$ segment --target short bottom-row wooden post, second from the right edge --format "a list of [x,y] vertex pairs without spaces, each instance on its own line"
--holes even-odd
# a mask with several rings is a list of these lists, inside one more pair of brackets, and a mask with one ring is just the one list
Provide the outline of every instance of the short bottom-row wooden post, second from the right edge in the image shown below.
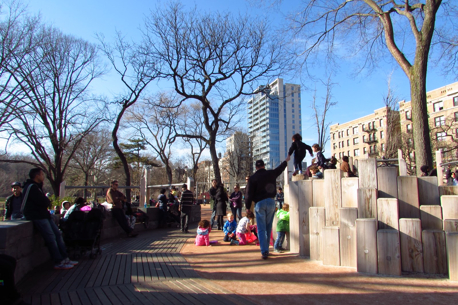
[[425,273],[447,274],[445,233],[441,230],[423,230],[423,266]]

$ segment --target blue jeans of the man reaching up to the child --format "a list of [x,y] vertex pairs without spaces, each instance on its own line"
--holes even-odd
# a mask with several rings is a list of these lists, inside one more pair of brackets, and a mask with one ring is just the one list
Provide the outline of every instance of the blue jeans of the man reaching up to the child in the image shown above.
[[267,198],[256,202],[255,212],[261,254],[264,254],[264,252],[269,253],[270,234],[272,234],[273,215],[275,214],[275,200]]

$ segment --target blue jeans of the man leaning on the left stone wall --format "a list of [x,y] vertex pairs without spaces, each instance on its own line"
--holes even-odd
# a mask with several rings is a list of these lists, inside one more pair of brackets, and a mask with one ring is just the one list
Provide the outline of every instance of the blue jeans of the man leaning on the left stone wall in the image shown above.
[[55,263],[60,263],[68,257],[62,233],[52,219],[32,220],[35,228],[43,236],[48,246],[49,254]]

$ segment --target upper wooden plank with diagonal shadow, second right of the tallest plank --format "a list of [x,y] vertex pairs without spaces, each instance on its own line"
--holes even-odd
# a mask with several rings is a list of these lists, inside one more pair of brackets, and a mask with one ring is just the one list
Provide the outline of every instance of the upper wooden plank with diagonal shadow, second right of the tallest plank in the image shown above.
[[400,218],[420,218],[417,176],[398,177]]

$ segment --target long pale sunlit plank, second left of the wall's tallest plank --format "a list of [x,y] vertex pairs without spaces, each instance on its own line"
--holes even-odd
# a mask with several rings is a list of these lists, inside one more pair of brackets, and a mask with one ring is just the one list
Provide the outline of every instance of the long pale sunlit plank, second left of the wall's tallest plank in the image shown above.
[[326,207],[326,225],[339,225],[339,207],[342,207],[342,185],[344,177],[340,169],[326,169],[324,183],[328,185],[324,192],[324,206]]

